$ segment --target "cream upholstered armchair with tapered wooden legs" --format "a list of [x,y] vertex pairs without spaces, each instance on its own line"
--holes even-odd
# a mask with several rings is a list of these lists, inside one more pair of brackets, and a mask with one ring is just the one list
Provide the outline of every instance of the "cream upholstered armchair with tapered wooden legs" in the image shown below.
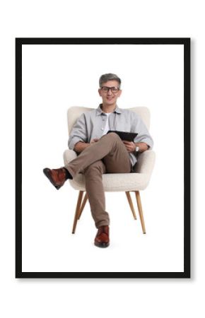
[[[139,114],[141,119],[149,128],[150,124],[150,112],[147,107],[134,107],[129,108],[130,110]],[[67,112],[69,134],[74,126],[74,123],[81,116],[83,112],[88,110],[93,110],[93,108],[86,107],[70,107]],[[76,152],[67,149],[64,151],[64,164],[68,164],[71,160],[76,158]],[[136,173],[109,173],[102,175],[102,182],[105,192],[125,192],[127,199],[129,201],[129,206],[133,213],[134,219],[136,220],[136,213],[134,211],[134,206],[131,201],[131,196],[129,192],[134,192],[136,195],[136,202],[139,210],[139,216],[141,220],[141,226],[144,234],[146,233],[146,228],[144,224],[144,216],[141,207],[141,199],[139,191],[146,189],[148,182],[151,178],[151,173],[153,171],[153,166],[155,163],[155,153],[154,151],[144,151],[140,153],[138,157],[138,162],[136,164]],[[85,194],[83,197],[83,192],[86,192],[85,178],[84,175],[79,173],[74,177],[74,179],[69,180],[71,187],[79,191],[78,201],[76,206],[76,213],[74,217],[74,225],[72,232],[76,230],[76,225],[78,219],[81,217],[83,208],[86,205],[88,196]]]

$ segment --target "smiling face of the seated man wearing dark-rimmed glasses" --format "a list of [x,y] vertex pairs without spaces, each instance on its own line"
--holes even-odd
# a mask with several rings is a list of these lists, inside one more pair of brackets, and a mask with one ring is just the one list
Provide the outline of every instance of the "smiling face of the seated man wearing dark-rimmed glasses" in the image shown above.
[[[104,87],[104,89],[103,89]],[[106,87],[106,88],[105,88]],[[118,88],[119,83],[118,81],[107,81],[105,83],[102,83],[102,88],[99,88],[98,93],[102,97],[102,104],[104,105],[112,105],[116,104],[117,98],[122,93],[122,90],[116,90],[113,88]],[[112,88],[112,90],[107,90],[107,88]]]

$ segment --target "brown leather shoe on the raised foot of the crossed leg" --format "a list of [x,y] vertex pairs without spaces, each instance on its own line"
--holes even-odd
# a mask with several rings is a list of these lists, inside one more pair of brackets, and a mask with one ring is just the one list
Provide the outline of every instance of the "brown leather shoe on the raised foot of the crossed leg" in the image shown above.
[[45,168],[43,172],[57,190],[64,185],[64,182],[66,181],[66,171],[64,167],[59,169]]

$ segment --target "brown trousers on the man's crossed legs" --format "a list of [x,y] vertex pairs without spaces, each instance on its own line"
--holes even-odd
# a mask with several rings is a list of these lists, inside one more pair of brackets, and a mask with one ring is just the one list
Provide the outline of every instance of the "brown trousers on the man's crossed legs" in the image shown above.
[[102,136],[97,143],[84,149],[65,167],[72,177],[77,173],[84,174],[86,193],[96,228],[109,225],[110,218],[105,211],[102,174],[131,172],[129,153],[119,136],[115,133]]

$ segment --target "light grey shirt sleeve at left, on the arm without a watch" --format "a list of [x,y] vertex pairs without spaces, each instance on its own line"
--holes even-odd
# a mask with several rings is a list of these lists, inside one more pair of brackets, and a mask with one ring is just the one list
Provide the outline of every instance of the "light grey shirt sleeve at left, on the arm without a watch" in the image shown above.
[[78,141],[86,143],[88,140],[88,134],[86,129],[86,117],[85,114],[81,114],[71,130],[69,136],[69,149],[74,150],[74,146]]

